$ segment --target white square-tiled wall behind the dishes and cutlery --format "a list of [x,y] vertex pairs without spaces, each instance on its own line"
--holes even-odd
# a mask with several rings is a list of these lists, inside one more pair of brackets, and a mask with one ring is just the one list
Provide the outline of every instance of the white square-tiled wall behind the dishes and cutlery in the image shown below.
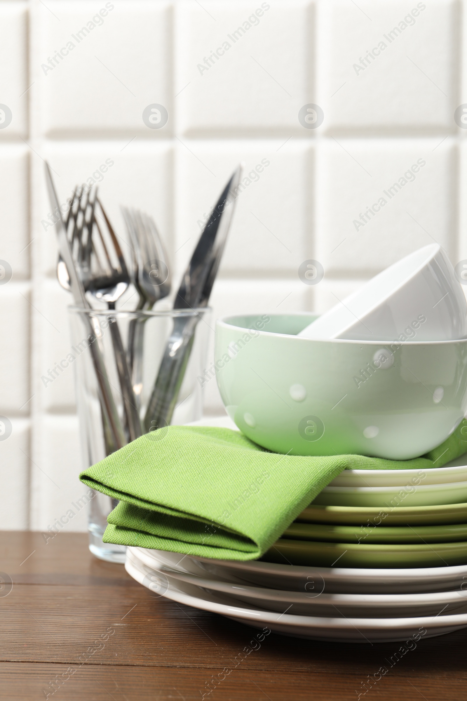
[[[111,161],[100,182],[111,220],[123,231],[120,204],[150,212],[175,278],[244,161],[215,316],[324,311],[433,240],[456,263],[467,257],[467,132],[454,121],[467,102],[466,5],[0,0],[0,109],[13,115],[0,121],[0,260],[13,269],[0,284],[0,416],[12,426],[1,529],[47,529],[83,494],[72,372],[41,382],[70,345],[44,159],[61,200]],[[169,114],[159,130],[141,116],[153,103]],[[298,119],[310,103],[323,109],[316,129]],[[325,269],[316,287],[298,277],[310,258]],[[222,411],[214,380],[205,407]],[[84,512],[69,527],[84,530]]]

